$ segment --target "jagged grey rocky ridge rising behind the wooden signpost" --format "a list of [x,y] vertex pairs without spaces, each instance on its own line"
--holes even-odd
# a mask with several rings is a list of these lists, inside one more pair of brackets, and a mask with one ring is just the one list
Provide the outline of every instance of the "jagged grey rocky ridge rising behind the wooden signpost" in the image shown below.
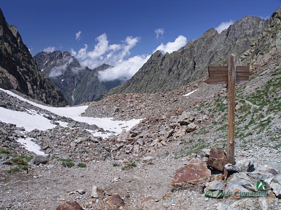
[[108,94],[167,92],[207,75],[208,65],[225,65],[226,56],[240,56],[260,35],[266,25],[258,17],[244,17],[218,34],[215,29],[190,40],[173,53],[155,52],[128,81]]

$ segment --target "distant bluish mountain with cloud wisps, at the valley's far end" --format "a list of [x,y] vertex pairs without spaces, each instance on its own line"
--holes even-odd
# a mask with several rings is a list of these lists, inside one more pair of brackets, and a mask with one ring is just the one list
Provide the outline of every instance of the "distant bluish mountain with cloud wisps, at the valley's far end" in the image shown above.
[[99,99],[120,81],[100,82],[98,71],[110,68],[103,64],[96,69],[81,67],[79,61],[68,52],[41,52],[34,56],[39,69],[48,76],[64,94],[70,105]]

